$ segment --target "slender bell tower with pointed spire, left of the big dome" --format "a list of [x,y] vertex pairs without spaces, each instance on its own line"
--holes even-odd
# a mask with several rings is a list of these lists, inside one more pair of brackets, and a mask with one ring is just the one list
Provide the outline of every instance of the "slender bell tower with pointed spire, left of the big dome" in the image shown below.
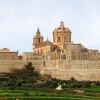
[[33,49],[39,48],[43,45],[43,36],[41,36],[39,28],[37,29],[36,35],[33,37]]

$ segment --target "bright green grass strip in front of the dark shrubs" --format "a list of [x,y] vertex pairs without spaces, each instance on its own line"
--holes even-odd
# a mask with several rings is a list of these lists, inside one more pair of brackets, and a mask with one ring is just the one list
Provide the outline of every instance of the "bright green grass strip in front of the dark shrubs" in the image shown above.
[[[78,91],[83,91],[77,92]],[[100,87],[81,89],[0,90],[0,100],[100,100]]]

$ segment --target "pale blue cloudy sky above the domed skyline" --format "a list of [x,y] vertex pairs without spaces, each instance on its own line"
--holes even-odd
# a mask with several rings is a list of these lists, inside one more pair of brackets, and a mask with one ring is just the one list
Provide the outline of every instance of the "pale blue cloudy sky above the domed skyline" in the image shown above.
[[100,0],[0,0],[0,48],[32,51],[37,28],[52,41],[61,20],[74,43],[100,50]]

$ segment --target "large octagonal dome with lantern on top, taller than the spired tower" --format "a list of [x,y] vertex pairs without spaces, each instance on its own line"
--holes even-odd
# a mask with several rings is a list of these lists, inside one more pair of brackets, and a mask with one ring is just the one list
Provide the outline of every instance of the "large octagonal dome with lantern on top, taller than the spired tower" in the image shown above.
[[53,31],[53,44],[59,45],[63,43],[71,43],[71,31],[64,26],[64,22],[61,21],[59,27]]

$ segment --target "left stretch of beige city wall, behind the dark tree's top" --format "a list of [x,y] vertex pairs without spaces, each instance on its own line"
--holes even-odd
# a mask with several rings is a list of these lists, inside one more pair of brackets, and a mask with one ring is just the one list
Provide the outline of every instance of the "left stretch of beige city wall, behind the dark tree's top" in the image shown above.
[[32,60],[32,61],[23,61],[23,60],[0,60],[0,73],[10,72],[11,69],[21,69],[28,62],[32,62],[33,67],[37,70],[41,68],[42,61],[41,60]]

